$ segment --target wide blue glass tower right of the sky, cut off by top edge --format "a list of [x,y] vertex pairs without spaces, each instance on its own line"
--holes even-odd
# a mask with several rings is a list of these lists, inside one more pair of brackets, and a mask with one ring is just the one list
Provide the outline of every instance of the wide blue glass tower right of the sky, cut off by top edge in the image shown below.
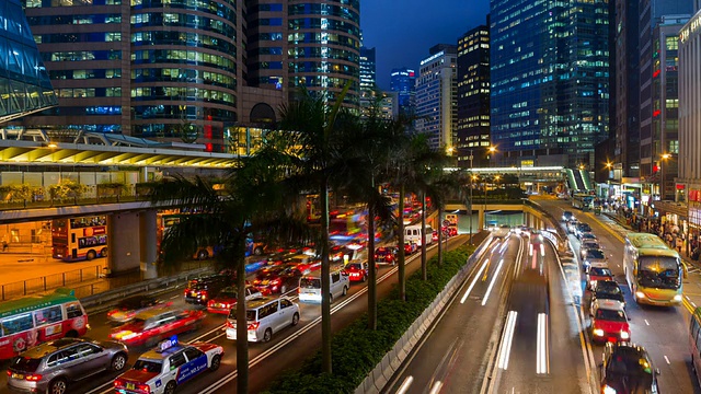
[[605,1],[491,1],[491,138],[502,165],[594,165],[608,134]]

